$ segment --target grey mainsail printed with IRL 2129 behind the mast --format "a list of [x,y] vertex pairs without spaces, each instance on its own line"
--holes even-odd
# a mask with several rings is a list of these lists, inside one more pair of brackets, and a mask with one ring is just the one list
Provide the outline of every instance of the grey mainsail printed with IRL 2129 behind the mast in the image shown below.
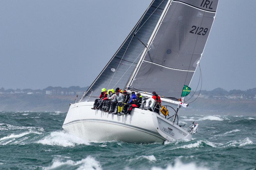
[[179,99],[208,39],[218,0],[172,0],[131,89]]

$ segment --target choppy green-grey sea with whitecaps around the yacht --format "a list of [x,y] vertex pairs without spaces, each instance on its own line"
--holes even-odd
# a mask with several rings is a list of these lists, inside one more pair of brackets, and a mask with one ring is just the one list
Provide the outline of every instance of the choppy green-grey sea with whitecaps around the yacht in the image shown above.
[[256,169],[256,115],[179,115],[199,131],[157,144],[89,142],[62,129],[66,114],[0,112],[0,169]]

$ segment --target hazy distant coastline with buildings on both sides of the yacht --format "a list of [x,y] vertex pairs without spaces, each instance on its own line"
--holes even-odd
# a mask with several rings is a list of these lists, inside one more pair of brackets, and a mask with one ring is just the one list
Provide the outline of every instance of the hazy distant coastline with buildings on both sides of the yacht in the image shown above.
[[[67,112],[76,94],[80,98],[88,87],[71,86],[68,88],[49,86],[42,90],[0,89],[0,111],[60,111]],[[185,98],[189,99],[194,92]],[[198,92],[188,100],[195,100]],[[180,109],[180,114],[204,115],[255,115],[256,88],[249,90],[226,91],[216,88],[202,90],[189,109]]]

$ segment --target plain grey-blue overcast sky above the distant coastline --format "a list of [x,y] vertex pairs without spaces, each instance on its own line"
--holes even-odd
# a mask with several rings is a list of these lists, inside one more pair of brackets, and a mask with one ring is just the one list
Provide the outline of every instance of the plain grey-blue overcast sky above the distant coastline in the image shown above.
[[[200,62],[202,89],[254,88],[256,1],[219,1]],[[1,0],[0,88],[90,85],[150,2]]]

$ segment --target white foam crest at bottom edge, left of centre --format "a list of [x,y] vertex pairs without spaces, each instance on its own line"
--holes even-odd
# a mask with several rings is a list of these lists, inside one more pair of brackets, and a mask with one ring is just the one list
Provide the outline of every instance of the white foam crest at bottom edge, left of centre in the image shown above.
[[[48,167],[44,167],[43,169],[62,169],[62,168],[71,169],[70,166],[79,166],[77,169],[88,169],[88,170],[101,170],[100,163],[96,161],[94,158],[88,156],[85,159],[79,160],[79,161],[73,161],[73,160],[67,160],[65,162],[62,162],[57,159],[52,160],[52,165]],[[70,167],[70,168],[68,168]],[[73,168],[72,168],[73,169]]]

